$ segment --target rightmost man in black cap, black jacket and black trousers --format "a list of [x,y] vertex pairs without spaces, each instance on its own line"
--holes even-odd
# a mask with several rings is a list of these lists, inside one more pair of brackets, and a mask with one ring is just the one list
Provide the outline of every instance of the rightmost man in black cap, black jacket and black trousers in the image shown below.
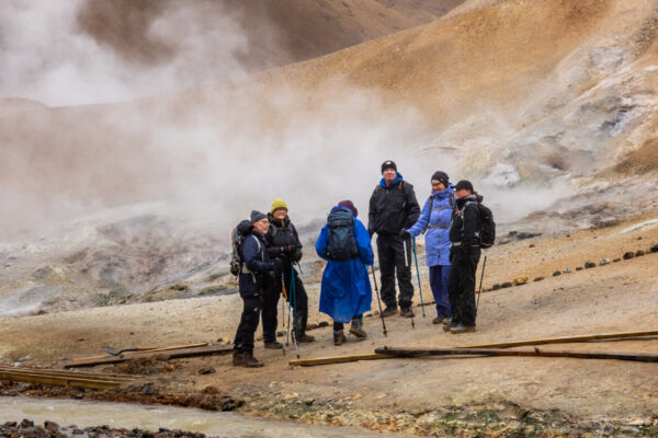
[[451,270],[447,296],[453,311],[452,321],[443,326],[451,333],[475,332],[475,272],[480,258],[479,207],[483,197],[468,181],[455,186],[456,209],[450,229]]

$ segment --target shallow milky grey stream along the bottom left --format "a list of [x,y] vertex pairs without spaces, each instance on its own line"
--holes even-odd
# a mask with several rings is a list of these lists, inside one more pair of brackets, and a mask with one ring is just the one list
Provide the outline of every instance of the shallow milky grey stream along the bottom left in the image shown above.
[[234,413],[195,408],[152,406],[126,403],[82,402],[73,400],[0,396],[0,422],[23,418],[43,424],[50,420],[63,427],[79,428],[107,425],[111,428],[140,428],[151,431],[160,427],[201,431],[211,437],[234,438],[350,438],[396,437],[366,430],[310,426],[292,422],[252,418]]

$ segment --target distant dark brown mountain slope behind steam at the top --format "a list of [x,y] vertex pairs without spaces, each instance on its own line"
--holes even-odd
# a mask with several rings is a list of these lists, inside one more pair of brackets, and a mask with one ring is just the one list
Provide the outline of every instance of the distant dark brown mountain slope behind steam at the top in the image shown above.
[[[367,39],[435,20],[463,0],[243,0],[180,3],[172,0],[87,0],[79,27],[124,58],[152,65],[174,55],[174,45],[154,35],[151,26],[174,13],[173,25],[185,18],[201,34],[218,20],[235,21],[249,41],[238,54],[250,69],[281,66],[326,55]],[[181,12],[182,11],[182,12]],[[174,30],[172,30],[174,31]],[[174,31],[175,32],[175,31]]]

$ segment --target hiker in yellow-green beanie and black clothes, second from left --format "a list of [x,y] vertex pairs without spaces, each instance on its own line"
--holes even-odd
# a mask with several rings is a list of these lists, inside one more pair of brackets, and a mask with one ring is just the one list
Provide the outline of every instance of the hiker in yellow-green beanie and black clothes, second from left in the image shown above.
[[[272,260],[281,261],[282,268],[274,273],[269,293],[263,300],[263,342],[265,348],[279,349],[283,345],[276,341],[277,306],[281,296],[287,301],[288,315],[293,316],[291,330],[290,318],[286,336],[293,336],[297,343],[310,343],[315,337],[306,334],[308,321],[308,297],[299,274],[294,264],[302,260],[302,242],[295,226],[288,217],[287,204],[280,198],[274,199],[270,212],[270,229],[265,234],[268,253]],[[284,321],[285,323],[285,321]]]

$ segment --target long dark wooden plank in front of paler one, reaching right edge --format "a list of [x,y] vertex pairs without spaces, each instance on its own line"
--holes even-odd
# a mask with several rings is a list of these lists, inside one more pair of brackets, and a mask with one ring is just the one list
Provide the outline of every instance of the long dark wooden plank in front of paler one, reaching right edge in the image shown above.
[[375,353],[395,357],[424,357],[424,356],[537,356],[537,357],[568,357],[576,359],[616,359],[640,362],[658,362],[658,355],[644,353],[601,353],[601,351],[547,351],[534,348],[532,350],[490,349],[490,348],[404,348],[383,347]]

